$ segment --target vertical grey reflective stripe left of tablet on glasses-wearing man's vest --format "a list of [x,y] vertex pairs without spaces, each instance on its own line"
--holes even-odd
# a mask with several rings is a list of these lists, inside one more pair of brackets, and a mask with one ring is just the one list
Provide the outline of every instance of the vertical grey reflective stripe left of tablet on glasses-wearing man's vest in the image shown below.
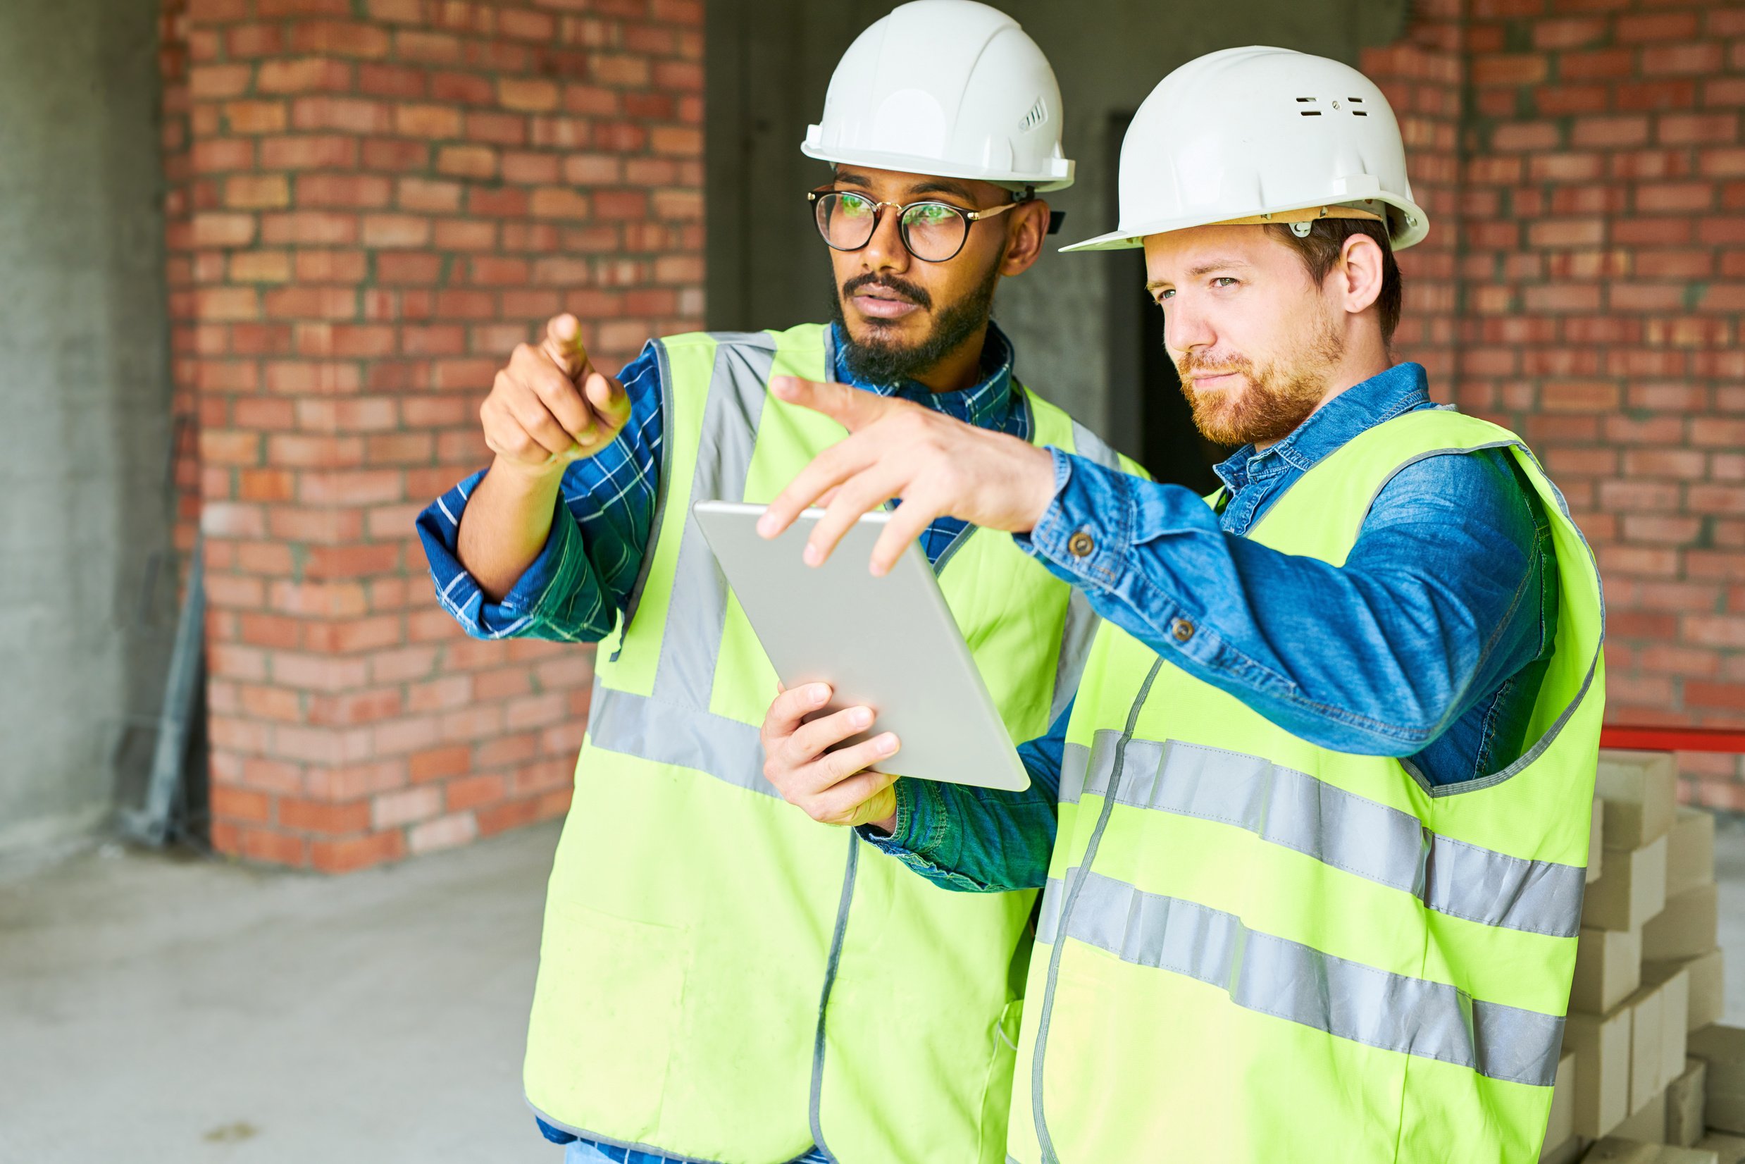
[[[775,337],[768,332],[715,337],[715,368],[703,405],[703,429],[691,478],[691,501],[738,501],[745,496],[757,422],[775,363]],[[654,698],[698,710],[708,709],[728,621],[728,583],[715,565],[696,518],[684,515],[667,633],[654,667]]]

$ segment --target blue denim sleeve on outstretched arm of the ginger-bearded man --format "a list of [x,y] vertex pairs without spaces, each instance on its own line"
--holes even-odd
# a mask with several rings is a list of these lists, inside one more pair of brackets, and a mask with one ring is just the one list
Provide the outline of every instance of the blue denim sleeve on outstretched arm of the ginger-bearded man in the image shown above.
[[1054,457],[1056,497],[1019,544],[1103,618],[1310,743],[1413,756],[1534,654],[1520,628],[1539,620],[1536,527],[1506,452],[1399,471],[1344,565],[1228,534],[1180,485]]

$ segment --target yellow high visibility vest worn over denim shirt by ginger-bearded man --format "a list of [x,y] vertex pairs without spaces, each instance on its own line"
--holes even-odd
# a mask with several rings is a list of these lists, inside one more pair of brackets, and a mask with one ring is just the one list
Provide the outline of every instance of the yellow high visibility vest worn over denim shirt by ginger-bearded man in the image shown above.
[[1586,543],[1516,436],[1447,410],[1352,438],[1249,537],[1344,564],[1394,473],[1499,447],[1544,503],[1558,567],[1530,745],[1502,771],[1436,787],[1316,747],[1169,665],[1167,646],[1098,632],[1031,956],[1014,1161],[1539,1159],[1604,703]]

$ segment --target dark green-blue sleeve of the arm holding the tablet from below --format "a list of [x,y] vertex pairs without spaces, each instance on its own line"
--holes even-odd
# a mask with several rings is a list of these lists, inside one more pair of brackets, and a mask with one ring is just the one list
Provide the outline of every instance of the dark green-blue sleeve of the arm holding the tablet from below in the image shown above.
[[890,836],[860,836],[928,881],[967,894],[1042,888],[1049,876],[1066,750],[1068,703],[1049,735],[1017,747],[1030,773],[1023,792],[967,784],[899,780]]

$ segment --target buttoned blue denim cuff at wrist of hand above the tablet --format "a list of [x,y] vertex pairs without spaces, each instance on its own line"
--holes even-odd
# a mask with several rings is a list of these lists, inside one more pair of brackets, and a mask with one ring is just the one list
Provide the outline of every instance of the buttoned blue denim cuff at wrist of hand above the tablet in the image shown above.
[[1049,454],[1054,457],[1054,499],[1033,531],[1012,534],[1012,539],[1056,578],[1087,590],[1108,590],[1133,548],[1134,478],[1052,445]]

